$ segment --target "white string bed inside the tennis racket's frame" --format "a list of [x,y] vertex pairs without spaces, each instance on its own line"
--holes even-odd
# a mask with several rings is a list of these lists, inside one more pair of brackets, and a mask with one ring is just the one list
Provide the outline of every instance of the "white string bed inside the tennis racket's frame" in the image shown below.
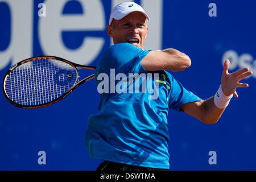
[[[68,75],[72,77],[68,77]],[[51,102],[72,88],[76,71],[59,60],[35,60],[15,68],[6,80],[7,96],[20,105]]]

